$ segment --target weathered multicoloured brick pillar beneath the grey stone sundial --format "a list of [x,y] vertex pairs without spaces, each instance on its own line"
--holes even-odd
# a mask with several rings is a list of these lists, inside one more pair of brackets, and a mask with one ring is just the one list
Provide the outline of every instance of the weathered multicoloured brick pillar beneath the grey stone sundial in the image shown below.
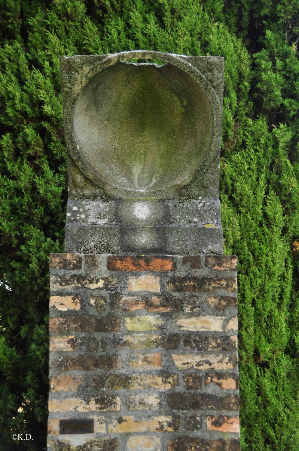
[[48,450],[240,450],[236,267],[51,254]]

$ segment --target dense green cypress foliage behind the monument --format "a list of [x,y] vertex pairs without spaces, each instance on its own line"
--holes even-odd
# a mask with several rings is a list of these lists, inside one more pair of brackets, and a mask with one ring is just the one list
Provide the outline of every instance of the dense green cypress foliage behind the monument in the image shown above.
[[225,252],[239,257],[242,450],[298,450],[298,0],[0,7],[0,451],[45,449],[48,258],[64,250],[67,200],[59,55],[136,49],[225,57],[221,202]]

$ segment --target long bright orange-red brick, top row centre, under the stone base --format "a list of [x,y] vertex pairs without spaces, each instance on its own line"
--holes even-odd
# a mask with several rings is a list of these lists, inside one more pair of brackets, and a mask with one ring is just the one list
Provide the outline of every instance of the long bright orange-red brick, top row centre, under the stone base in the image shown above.
[[174,271],[175,257],[158,255],[109,255],[109,271]]

